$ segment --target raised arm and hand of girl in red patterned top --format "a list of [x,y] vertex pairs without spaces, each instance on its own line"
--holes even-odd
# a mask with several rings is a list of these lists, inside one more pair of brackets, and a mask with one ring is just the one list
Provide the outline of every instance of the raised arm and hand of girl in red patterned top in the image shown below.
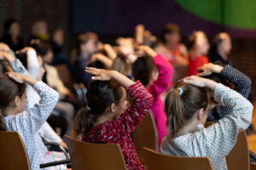
[[152,104],[153,97],[148,93],[148,90],[143,87],[141,82],[133,82],[118,71],[105,71],[88,67],[85,71],[95,75],[95,77],[92,77],[93,80],[107,81],[113,78],[127,90],[134,102],[125,113],[113,120],[112,125],[114,129],[118,129],[122,133],[134,131],[139,123],[142,122],[143,117],[148,114]]

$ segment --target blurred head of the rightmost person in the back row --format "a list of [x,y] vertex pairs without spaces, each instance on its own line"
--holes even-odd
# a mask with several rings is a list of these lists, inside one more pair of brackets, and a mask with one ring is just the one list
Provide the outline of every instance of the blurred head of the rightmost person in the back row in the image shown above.
[[220,54],[230,54],[232,44],[229,34],[226,32],[218,33],[214,38],[214,43],[217,45],[217,49]]

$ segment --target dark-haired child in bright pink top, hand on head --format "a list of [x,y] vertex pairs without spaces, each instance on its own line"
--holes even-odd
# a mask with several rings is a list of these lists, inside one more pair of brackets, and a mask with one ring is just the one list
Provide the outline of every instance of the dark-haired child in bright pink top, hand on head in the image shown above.
[[148,88],[154,100],[150,108],[154,116],[154,122],[158,132],[158,144],[160,147],[162,138],[166,135],[166,114],[161,94],[169,88],[172,82],[172,65],[161,54],[156,54],[148,46],[139,48],[145,57],[138,58],[132,65],[132,76],[140,80]]

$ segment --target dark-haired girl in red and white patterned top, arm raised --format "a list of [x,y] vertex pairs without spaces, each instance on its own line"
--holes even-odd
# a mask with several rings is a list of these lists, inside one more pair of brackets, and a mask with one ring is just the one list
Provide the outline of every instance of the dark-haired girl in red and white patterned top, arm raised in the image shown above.
[[[88,67],[94,75],[86,94],[87,106],[76,116],[75,129],[82,140],[92,143],[119,144],[127,169],[144,169],[132,144],[130,133],[148,114],[152,95],[141,82],[132,82],[118,71]],[[126,92],[134,99],[126,109]]]

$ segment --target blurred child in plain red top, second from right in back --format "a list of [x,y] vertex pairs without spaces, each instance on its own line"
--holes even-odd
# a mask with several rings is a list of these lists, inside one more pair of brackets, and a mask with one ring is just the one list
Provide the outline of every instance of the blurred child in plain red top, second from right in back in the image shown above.
[[191,36],[189,36],[189,42],[192,47],[188,54],[188,76],[192,76],[197,75],[199,67],[209,63],[209,59],[206,55],[208,53],[209,43],[207,36],[202,31],[195,31]]

